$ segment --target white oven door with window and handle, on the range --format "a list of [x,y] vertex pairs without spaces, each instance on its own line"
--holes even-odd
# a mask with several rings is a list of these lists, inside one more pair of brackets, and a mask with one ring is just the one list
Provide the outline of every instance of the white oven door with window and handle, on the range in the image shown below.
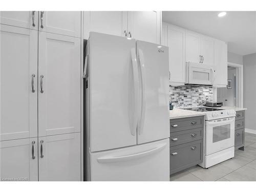
[[205,155],[234,146],[234,117],[206,121]]

